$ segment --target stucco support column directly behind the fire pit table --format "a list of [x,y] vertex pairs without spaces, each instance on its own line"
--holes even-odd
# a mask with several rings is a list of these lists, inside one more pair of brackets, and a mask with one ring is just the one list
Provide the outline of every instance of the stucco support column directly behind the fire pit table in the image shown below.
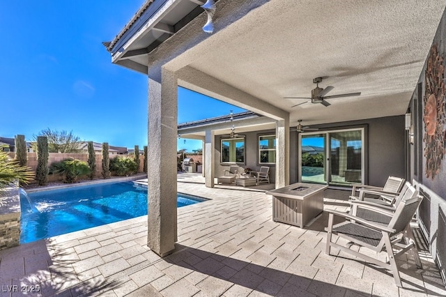
[[276,188],[290,183],[290,120],[276,123]]

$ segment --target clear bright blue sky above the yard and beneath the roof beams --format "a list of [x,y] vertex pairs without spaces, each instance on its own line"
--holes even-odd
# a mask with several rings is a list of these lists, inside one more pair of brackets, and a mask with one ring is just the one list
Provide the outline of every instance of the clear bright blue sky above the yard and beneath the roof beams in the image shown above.
[[[112,64],[110,41],[144,0],[0,1],[1,137],[72,130],[83,140],[147,144],[147,77]],[[206,106],[205,108],[202,108]],[[192,107],[192,108],[191,108]],[[243,112],[178,90],[178,123]],[[178,149],[201,142],[178,139]]]

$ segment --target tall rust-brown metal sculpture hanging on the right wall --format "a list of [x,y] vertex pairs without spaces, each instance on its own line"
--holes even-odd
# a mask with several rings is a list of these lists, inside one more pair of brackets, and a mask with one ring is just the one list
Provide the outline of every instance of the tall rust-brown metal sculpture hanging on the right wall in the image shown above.
[[424,93],[424,158],[426,177],[435,179],[446,153],[446,87],[444,58],[432,45],[427,58]]

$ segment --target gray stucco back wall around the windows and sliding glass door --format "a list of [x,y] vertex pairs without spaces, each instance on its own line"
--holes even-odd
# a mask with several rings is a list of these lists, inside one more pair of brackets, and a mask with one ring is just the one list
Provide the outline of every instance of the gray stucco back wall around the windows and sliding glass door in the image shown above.
[[[387,116],[379,119],[365,119],[327,125],[314,125],[320,130],[337,130],[344,128],[366,128],[364,151],[366,152],[366,180],[369,185],[384,185],[387,177],[405,177],[405,135],[404,116]],[[244,133],[246,146],[246,163],[240,167],[259,169],[258,159],[259,135],[275,134],[275,130],[263,130]],[[229,165],[220,162],[220,139],[215,137],[215,176],[222,176]],[[298,133],[290,132],[290,183],[298,181]],[[275,181],[275,165],[270,165],[270,180]]]

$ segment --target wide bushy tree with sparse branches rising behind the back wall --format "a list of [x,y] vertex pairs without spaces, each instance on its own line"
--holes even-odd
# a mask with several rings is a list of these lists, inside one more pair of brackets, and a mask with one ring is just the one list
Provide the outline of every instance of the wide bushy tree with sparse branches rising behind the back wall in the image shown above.
[[79,147],[81,139],[74,135],[72,131],[58,131],[46,128],[41,130],[37,136],[33,135],[34,140],[38,136],[47,137],[49,153],[79,153],[81,151]]

